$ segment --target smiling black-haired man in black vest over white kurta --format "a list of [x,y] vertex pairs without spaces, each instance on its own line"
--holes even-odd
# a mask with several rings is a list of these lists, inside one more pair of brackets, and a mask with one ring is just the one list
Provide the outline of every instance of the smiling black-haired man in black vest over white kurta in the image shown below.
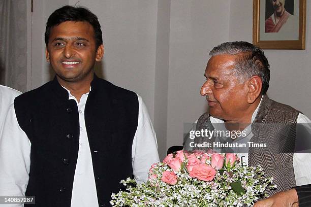
[[104,46],[98,19],[87,9],[54,11],[45,43],[56,76],[9,110],[0,140],[0,195],[36,196],[31,206],[108,206],[120,180],[146,181],[159,161],[147,109],[136,93],[94,74]]

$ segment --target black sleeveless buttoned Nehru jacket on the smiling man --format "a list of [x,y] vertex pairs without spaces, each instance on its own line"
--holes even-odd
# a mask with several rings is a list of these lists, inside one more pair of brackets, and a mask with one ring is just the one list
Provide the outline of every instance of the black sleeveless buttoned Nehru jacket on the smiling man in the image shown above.
[[[32,143],[26,196],[36,196],[36,204],[29,206],[69,207],[79,149],[76,101],[54,78],[17,97],[14,107]],[[120,180],[132,177],[138,97],[95,76],[84,112],[99,206],[109,206]]]

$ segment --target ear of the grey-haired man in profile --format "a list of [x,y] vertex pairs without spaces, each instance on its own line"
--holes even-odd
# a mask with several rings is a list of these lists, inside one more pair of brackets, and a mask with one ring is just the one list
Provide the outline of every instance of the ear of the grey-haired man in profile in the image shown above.
[[252,104],[260,96],[262,81],[258,76],[252,76],[247,81],[247,102]]

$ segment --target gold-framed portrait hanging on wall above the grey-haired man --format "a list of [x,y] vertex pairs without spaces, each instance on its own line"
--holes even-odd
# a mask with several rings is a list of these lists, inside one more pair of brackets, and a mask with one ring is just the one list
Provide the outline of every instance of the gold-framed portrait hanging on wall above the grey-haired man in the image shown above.
[[253,0],[253,44],[305,49],[306,0]]

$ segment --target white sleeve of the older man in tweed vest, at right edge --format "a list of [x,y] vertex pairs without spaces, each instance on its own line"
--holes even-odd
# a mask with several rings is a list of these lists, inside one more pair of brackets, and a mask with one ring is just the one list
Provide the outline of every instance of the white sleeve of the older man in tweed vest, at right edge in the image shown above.
[[[297,124],[311,135],[311,120],[303,114],[298,115]],[[298,130],[298,127],[297,127]],[[311,137],[310,137],[311,139]],[[311,156],[309,153],[294,153],[293,158],[296,185],[311,184]]]

